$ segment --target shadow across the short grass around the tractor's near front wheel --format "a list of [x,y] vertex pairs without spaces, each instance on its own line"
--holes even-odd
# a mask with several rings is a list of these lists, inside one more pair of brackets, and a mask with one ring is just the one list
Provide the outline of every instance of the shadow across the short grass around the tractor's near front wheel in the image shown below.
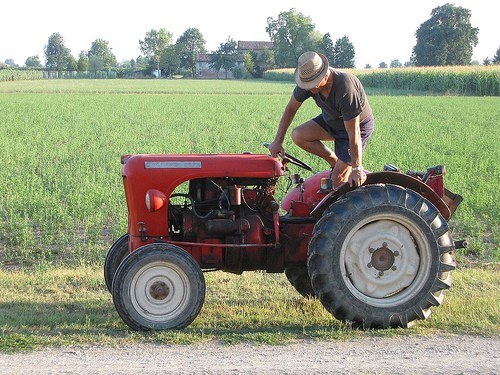
[[221,344],[286,345],[303,339],[352,338],[346,325],[263,323],[231,326],[230,318],[208,323],[200,314],[182,330],[139,332],[119,317],[111,299],[72,303],[0,303],[0,352],[33,351],[68,345],[128,345],[156,343],[190,345],[207,341]]

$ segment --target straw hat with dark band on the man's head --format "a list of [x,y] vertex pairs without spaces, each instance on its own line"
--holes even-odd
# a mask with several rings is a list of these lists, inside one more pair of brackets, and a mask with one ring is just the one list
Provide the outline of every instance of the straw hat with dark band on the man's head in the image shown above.
[[316,52],[304,52],[299,57],[295,69],[295,82],[304,90],[317,86],[328,71],[328,59],[325,55]]

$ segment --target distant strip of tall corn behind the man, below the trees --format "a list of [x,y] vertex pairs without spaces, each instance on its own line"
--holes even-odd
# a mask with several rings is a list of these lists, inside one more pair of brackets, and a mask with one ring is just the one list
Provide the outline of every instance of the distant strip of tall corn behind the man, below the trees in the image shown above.
[[[426,91],[449,95],[500,96],[500,66],[347,69],[365,87]],[[293,69],[265,73],[274,81],[293,81]]]

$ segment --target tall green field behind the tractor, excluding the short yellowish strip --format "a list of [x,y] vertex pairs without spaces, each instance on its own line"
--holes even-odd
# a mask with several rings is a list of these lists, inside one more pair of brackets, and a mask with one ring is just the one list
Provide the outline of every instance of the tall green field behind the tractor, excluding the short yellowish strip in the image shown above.
[[[0,83],[0,263],[99,264],[127,227],[120,155],[265,153],[292,89],[257,81]],[[445,164],[447,187],[465,198],[451,221],[455,236],[471,240],[468,253],[498,261],[500,98],[372,93],[370,102],[376,131],[365,167]],[[318,113],[310,101],[303,107],[295,124]],[[290,138],[286,148],[326,168]]]

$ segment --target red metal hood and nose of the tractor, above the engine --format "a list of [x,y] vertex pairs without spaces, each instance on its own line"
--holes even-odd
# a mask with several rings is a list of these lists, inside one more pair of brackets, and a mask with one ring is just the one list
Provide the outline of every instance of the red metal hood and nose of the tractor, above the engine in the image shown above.
[[128,231],[133,236],[138,236],[141,230],[145,230],[138,227],[141,223],[147,223],[148,233],[166,234],[167,211],[150,212],[145,203],[152,195],[158,195],[158,192],[161,197],[168,199],[177,186],[194,179],[274,179],[285,173],[278,159],[258,154],[138,154],[122,156],[121,160],[129,211]]

